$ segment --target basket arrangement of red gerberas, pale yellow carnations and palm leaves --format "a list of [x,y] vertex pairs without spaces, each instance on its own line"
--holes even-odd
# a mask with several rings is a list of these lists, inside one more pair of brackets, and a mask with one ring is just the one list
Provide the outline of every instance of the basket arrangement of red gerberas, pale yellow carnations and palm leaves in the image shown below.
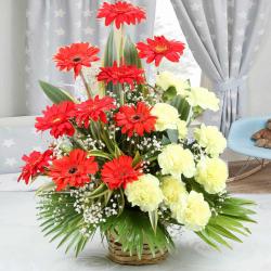
[[100,230],[111,258],[125,263],[164,259],[173,248],[172,227],[194,231],[217,249],[241,242],[236,233],[249,233],[243,222],[254,222],[254,203],[225,191],[228,168],[219,155],[227,141],[216,127],[190,128],[205,109],[218,111],[219,100],[168,72],[157,73],[152,86],[141,64],[179,62],[184,44],[164,36],[133,44],[125,25],[146,14],[131,3],[104,2],[98,18],[113,25],[91,78],[99,90],[83,75],[99,61],[99,49],[88,42],[60,48],[53,57],[60,70],[81,78],[85,100],[40,82],[53,105],[35,127],[54,140],[46,152],[23,156],[18,180],[50,179],[37,191],[42,231],[78,255]]

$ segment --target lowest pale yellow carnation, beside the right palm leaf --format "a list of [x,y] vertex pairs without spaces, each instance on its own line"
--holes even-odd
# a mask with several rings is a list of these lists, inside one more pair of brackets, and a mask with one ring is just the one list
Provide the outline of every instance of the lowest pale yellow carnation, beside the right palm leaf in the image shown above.
[[172,210],[172,216],[179,223],[192,231],[201,231],[208,223],[211,211],[202,193],[191,191],[186,201],[182,201]]

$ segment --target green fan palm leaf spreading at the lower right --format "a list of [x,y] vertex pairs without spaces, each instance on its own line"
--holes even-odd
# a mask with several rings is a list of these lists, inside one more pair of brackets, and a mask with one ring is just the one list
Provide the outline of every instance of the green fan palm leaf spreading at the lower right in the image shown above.
[[236,234],[248,235],[249,229],[244,227],[244,222],[256,222],[249,216],[255,211],[247,206],[255,205],[251,201],[246,201],[236,197],[225,197],[221,203],[206,228],[196,232],[196,234],[205,241],[208,245],[219,250],[218,244],[224,245],[231,248],[231,245],[227,240],[242,243],[241,238]]

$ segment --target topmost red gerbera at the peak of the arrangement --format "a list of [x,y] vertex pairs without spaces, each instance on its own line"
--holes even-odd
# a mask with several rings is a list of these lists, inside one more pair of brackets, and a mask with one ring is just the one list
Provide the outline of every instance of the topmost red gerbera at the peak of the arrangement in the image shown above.
[[115,22],[117,29],[119,29],[122,24],[139,24],[146,18],[146,15],[140,7],[118,1],[116,3],[104,2],[102,8],[99,9],[96,17],[104,17],[106,26]]

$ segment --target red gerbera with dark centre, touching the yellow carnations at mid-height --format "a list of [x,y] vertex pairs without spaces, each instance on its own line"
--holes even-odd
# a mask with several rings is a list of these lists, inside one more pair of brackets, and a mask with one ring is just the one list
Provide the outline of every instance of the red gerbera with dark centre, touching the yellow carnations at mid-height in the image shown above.
[[115,120],[117,126],[122,127],[122,133],[131,137],[136,132],[142,137],[144,132],[155,130],[156,117],[151,115],[151,107],[143,102],[138,102],[137,106],[121,106],[115,115]]

